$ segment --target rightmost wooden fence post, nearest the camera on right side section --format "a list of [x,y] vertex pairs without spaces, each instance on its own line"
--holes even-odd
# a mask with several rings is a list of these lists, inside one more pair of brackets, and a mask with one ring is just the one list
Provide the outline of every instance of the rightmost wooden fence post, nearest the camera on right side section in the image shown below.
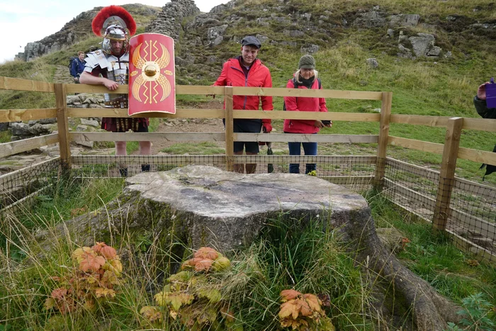
[[463,118],[455,117],[448,120],[446,125],[446,138],[444,139],[443,161],[439,172],[439,185],[437,186],[436,207],[432,225],[434,230],[445,230],[449,218],[451,191],[455,178],[456,159],[460,145]]

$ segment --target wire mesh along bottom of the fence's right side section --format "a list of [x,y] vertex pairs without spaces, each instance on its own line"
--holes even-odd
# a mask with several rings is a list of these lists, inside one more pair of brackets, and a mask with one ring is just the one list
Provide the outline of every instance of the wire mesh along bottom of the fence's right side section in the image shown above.
[[[496,261],[496,188],[395,159],[385,162],[383,194],[402,208],[446,230],[456,245]],[[441,183],[441,184],[440,184]]]

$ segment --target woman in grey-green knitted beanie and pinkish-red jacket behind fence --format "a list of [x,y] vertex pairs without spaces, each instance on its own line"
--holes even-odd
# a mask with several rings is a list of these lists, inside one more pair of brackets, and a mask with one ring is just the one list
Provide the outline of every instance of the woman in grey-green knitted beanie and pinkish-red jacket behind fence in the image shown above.
[[[288,89],[322,89],[320,79],[317,78],[315,59],[312,55],[303,55],[298,62],[298,71],[293,79],[288,81]],[[284,97],[286,111],[321,111],[327,112],[324,98]],[[320,128],[331,128],[332,121],[324,120],[284,120],[284,133],[316,134]],[[301,145],[305,155],[317,155],[317,142],[288,142],[289,155],[301,155]],[[305,174],[317,169],[317,164],[306,164]],[[290,174],[300,173],[300,164],[289,164]]]

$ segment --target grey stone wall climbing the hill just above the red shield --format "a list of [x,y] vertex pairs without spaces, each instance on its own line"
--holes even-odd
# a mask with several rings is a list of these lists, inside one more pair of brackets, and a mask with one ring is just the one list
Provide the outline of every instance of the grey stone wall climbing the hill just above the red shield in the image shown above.
[[145,31],[169,35],[177,41],[182,29],[182,19],[198,13],[200,9],[193,0],[171,0],[162,7],[162,13],[159,13],[157,18],[145,28]]

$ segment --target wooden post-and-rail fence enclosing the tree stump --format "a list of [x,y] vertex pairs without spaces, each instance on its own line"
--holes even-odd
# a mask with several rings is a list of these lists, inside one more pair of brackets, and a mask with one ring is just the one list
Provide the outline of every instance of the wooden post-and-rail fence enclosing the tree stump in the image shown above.
[[[19,140],[0,144],[0,157],[6,157],[19,152],[26,152],[34,148],[50,145],[55,142],[60,146],[62,167],[71,167],[72,157],[70,142],[76,140],[89,141],[225,141],[225,155],[223,156],[226,169],[232,170],[235,162],[242,163],[244,157],[233,155],[235,141],[270,141],[270,142],[345,142],[345,143],[377,143],[375,155],[375,172],[373,184],[381,188],[385,185],[385,168],[388,162],[388,145],[405,147],[412,150],[433,152],[442,155],[439,184],[434,201],[435,211],[432,218],[434,229],[446,231],[447,220],[451,215],[450,201],[453,186],[455,186],[455,167],[457,159],[468,159],[473,162],[496,164],[496,153],[482,150],[472,150],[459,147],[462,130],[481,130],[496,132],[496,120],[479,118],[450,118],[443,116],[411,116],[391,113],[391,92],[376,91],[334,91],[334,90],[307,90],[287,88],[256,88],[236,86],[176,86],[176,94],[190,95],[222,95],[225,98],[225,109],[196,109],[179,108],[176,114],[151,113],[150,117],[160,118],[225,118],[225,133],[72,133],[69,132],[68,118],[77,117],[125,117],[128,109],[113,108],[68,108],[67,94],[73,93],[115,93],[128,94],[128,86],[119,86],[115,91],[108,91],[104,86],[83,84],[50,84],[34,82],[25,79],[0,77],[0,89],[16,91],[38,91],[55,93],[56,108],[46,109],[4,109],[0,110],[0,122],[14,122],[18,120],[38,120],[42,118],[57,118],[58,133],[43,137]],[[381,101],[381,113],[308,113],[293,111],[237,111],[233,110],[233,96],[306,96],[322,97],[326,99],[356,99]],[[139,116],[135,116],[139,117]],[[271,118],[271,119],[305,119],[305,120],[333,120],[378,122],[378,135],[284,135],[271,133],[233,133],[233,118]],[[446,128],[444,144],[424,142],[389,135],[391,123],[410,125],[427,125]],[[78,157],[81,159],[81,157]],[[259,157],[261,159],[261,157]],[[309,159],[309,157],[302,157]],[[266,160],[266,157],[264,157]],[[311,159],[311,157],[310,157]],[[257,157],[250,157],[250,161],[257,161]],[[9,174],[4,175],[9,176]],[[476,183],[472,183],[477,185]],[[491,220],[494,223],[494,220]],[[486,222],[486,221],[484,221]],[[496,237],[492,238],[496,240]],[[463,246],[463,245],[462,245]],[[496,254],[496,252],[492,252]],[[492,255],[496,260],[496,255]]]

